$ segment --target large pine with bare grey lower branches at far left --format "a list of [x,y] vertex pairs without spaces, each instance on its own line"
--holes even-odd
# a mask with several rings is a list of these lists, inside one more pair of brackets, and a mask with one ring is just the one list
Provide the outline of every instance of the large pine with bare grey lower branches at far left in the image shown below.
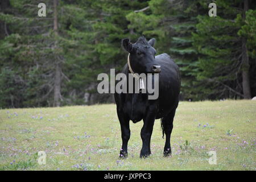
[[[70,72],[76,49],[82,57],[84,47],[74,34],[84,31],[86,26],[80,5],[65,1],[44,1],[47,16],[38,16],[40,1],[10,1],[9,10],[0,14],[7,26],[7,36],[0,43],[1,67],[3,71],[19,77],[23,83],[23,102],[18,102],[20,90],[13,106],[60,106],[67,104],[71,91],[65,88],[75,75]],[[80,13],[80,14],[79,14]],[[76,15],[72,17],[73,15]],[[81,24],[80,24],[81,23]],[[15,85],[13,85],[15,88]]]

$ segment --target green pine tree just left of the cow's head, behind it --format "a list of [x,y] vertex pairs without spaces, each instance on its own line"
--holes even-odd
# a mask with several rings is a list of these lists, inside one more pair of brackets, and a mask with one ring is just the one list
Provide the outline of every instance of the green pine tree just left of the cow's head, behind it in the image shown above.
[[88,54],[84,57],[86,61],[76,62],[81,69],[77,69],[69,84],[79,90],[77,101],[88,97],[87,104],[113,102],[112,94],[97,93],[97,75],[109,74],[110,68],[115,68],[116,72],[121,71],[127,61],[127,53],[121,48],[121,40],[126,37],[132,40],[138,38],[138,35],[128,27],[126,15],[145,6],[147,1],[129,0],[91,1],[84,6],[86,11],[90,10],[88,21],[92,27],[86,32],[84,40],[84,43],[88,44]]

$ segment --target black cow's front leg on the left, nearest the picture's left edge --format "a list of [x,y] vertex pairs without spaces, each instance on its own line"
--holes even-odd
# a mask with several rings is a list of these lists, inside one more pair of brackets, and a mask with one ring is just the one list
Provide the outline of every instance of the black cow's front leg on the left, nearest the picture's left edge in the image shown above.
[[128,156],[127,145],[131,135],[130,125],[129,125],[130,119],[125,117],[125,115],[122,112],[117,111],[117,115],[118,115],[118,119],[121,126],[121,136],[122,136],[122,148],[120,150],[119,158],[124,159],[124,158],[127,158]]

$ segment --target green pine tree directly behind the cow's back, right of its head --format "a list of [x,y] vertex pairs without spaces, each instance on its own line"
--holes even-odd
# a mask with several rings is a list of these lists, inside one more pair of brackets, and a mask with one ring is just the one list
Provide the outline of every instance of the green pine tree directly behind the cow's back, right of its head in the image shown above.
[[[201,1],[151,0],[149,8],[126,17],[130,28],[148,39],[155,37],[158,53],[166,52],[179,65],[181,71],[181,99],[199,100],[201,87],[196,81],[197,50],[192,46],[192,32],[195,32],[196,16],[205,13]],[[206,3],[204,3],[206,4]]]

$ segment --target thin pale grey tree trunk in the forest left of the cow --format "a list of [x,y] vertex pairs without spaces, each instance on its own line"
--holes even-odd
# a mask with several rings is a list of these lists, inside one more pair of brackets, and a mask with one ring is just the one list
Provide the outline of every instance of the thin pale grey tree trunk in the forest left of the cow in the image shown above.
[[[58,35],[58,19],[57,19],[57,0],[53,0],[53,11],[54,11],[54,18],[53,18],[53,31],[55,33],[55,38]],[[55,48],[57,48],[57,40],[55,40]],[[54,78],[54,98],[53,98],[53,106],[60,106],[61,100],[61,65],[59,60],[57,59],[57,55],[55,56],[55,78]]]

